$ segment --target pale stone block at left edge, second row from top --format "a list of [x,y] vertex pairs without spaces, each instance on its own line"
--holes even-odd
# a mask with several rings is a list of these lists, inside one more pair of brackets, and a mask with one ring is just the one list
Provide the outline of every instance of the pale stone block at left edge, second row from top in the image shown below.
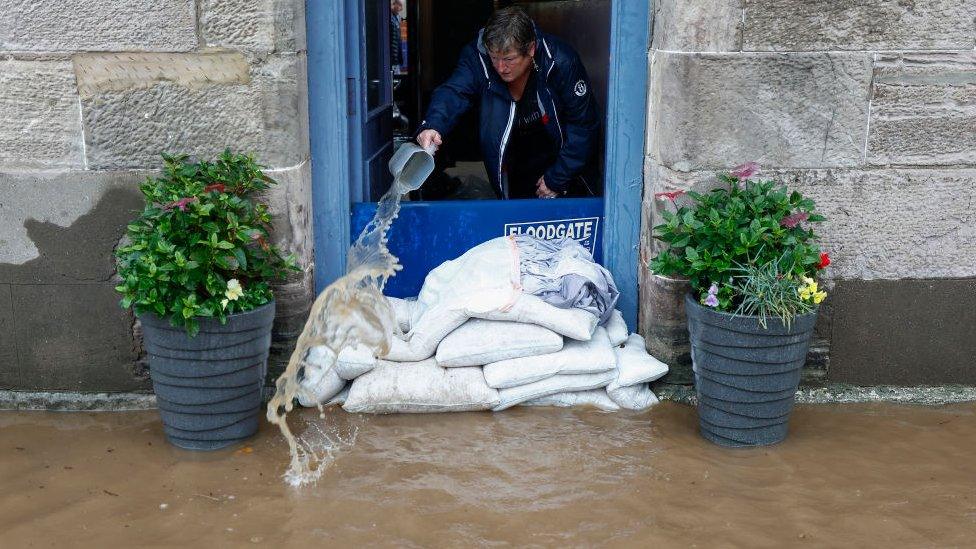
[[69,61],[2,60],[0,90],[0,166],[83,166],[78,92]]

